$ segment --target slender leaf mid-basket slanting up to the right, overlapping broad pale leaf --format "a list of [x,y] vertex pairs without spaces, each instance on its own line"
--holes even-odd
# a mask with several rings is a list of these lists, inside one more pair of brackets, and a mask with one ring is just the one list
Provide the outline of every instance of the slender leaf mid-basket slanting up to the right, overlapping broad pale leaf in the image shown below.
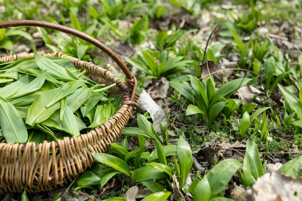
[[79,87],[83,86],[85,82],[85,80],[74,80],[67,82],[56,92],[56,94],[53,95],[46,105],[46,108],[53,106],[55,103],[59,102],[59,100],[70,95],[71,93],[74,93]]

